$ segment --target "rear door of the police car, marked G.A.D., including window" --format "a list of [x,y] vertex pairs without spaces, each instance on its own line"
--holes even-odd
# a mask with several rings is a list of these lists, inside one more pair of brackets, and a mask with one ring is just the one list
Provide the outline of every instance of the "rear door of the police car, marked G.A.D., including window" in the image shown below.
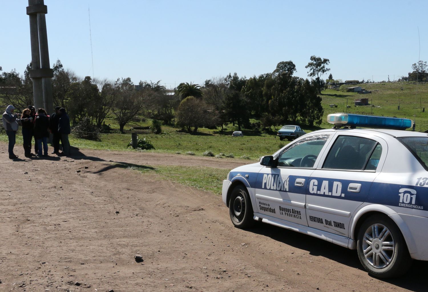
[[349,237],[352,214],[366,201],[386,157],[386,142],[364,134],[338,134],[308,182],[308,225]]

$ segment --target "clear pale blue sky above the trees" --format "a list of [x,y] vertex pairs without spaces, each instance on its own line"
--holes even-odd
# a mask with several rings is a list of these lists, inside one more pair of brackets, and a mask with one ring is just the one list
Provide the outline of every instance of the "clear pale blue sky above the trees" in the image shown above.
[[[334,79],[396,80],[428,61],[426,0],[45,0],[51,67],[80,77],[131,77],[174,88],[291,60],[307,78],[312,55]],[[27,0],[0,0],[0,66],[31,61]],[[89,12],[88,12],[89,9]],[[90,13],[90,25],[89,25]],[[419,27],[419,34],[418,34]],[[92,48],[91,48],[92,39]],[[420,45],[419,45],[420,42]],[[92,50],[92,56],[91,56]],[[92,66],[93,60],[93,66]]]

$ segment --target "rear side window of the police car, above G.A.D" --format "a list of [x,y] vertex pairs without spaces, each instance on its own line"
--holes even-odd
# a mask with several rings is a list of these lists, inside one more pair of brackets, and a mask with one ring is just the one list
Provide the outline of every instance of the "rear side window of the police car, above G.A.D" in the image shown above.
[[341,135],[337,137],[322,168],[376,170],[382,146],[375,140]]

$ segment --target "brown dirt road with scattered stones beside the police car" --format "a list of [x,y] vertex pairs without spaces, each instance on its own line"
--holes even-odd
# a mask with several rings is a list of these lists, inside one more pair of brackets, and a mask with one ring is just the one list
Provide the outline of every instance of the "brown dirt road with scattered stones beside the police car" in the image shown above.
[[0,143],[0,291],[427,291],[425,262],[378,280],[353,250],[274,226],[236,229],[220,196],[110,162],[245,161],[81,154],[10,161]]

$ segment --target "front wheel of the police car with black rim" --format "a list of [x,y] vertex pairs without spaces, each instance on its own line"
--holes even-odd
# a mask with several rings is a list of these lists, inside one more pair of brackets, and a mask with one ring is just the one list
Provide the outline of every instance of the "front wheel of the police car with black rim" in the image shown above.
[[247,188],[237,185],[230,195],[229,215],[235,227],[244,229],[254,225],[253,206]]

